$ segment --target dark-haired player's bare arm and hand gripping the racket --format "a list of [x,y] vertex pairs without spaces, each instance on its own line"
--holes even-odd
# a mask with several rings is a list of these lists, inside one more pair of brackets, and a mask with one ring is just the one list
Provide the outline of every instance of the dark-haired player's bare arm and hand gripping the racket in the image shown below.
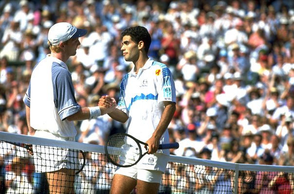
[[157,151],[159,146],[159,140],[161,136],[164,134],[167,129],[175,111],[176,111],[176,103],[171,101],[164,101],[165,109],[162,113],[161,119],[159,121],[158,126],[153,132],[150,139],[147,140],[148,144],[148,154],[153,154]]

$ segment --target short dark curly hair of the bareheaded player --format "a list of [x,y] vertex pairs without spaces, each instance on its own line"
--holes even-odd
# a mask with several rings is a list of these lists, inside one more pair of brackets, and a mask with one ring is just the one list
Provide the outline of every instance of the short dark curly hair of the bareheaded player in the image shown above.
[[134,26],[129,27],[122,32],[122,37],[130,36],[131,40],[138,44],[140,41],[144,42],[144,49],[146,53],[148,53],[150,44],[151,44],[151,36],[148,30],[143,26]]

